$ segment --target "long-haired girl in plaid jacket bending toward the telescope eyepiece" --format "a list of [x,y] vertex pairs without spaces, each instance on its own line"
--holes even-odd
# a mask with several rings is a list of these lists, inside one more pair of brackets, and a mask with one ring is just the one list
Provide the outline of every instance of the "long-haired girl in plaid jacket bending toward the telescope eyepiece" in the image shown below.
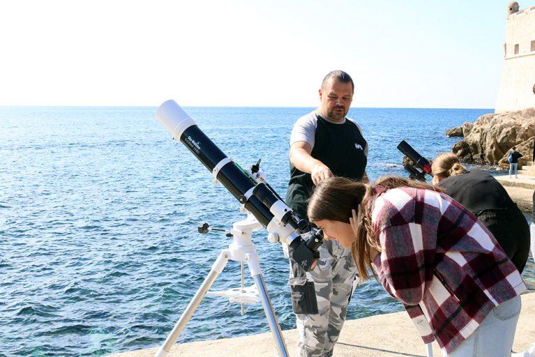
[[351,248],[444,356],[511,356],[526,285],[481,222],[442,190],[396,176],[320,182],[311,222]]

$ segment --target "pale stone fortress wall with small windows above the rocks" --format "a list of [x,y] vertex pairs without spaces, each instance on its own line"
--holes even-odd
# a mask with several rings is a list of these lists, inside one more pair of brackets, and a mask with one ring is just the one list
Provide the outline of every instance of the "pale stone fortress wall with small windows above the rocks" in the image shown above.
[[535,107],[535,6],[509,3],[504,56],[495,113]]

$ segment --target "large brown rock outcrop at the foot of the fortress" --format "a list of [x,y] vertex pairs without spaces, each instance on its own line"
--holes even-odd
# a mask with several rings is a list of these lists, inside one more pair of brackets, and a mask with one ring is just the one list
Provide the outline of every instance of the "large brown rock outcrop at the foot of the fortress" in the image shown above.
[[[469,124],[469,123],[467,123]],[[464,124],[463,124],[464,126]],[[472,128],[463,128],[465,144],[456,143],[452,151],[467,160],[483,165],[506,167],[506,155],[513,147],[524,155],[525,160],[532,160],[533,137],[535,136],[535,108],[520,112],[485,114],[480,116]],[[506,164],[504,164],[504,159]],[[522,165],[523,162],[519,162]],[[519,165],[519,166],[520,166]]]

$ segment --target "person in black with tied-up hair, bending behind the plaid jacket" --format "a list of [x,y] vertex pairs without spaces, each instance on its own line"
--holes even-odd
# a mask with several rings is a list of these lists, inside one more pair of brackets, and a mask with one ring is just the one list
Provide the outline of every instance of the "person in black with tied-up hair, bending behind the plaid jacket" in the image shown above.
[[474,213],[522,273],[529,256],[529,225],[504,186],[479,169],[467,170],[453,153],[437,155],[433,184]]

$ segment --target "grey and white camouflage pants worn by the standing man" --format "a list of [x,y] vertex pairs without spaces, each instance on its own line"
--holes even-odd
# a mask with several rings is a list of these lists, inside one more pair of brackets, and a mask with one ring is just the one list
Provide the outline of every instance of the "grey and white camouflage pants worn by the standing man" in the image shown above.
[[[324,241],[320,260],[307,280],[314,282],[318,314],[296,314],[297,356],[332,356],[338,340],[355,280],[351,250],[336,241]],[[291,270],[290,270],[291,271]]]

